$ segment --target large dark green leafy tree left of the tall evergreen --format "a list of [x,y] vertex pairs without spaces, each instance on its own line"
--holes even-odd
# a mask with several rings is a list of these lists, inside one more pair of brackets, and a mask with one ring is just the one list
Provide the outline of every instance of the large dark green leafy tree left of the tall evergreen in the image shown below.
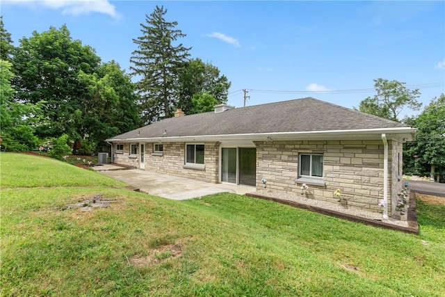
[[83,97],[79,72],[92,74],[100,58],[94,49],[72,40],[67,26],[51,27],[22,38],[14,56],[13,87],[20,102],[44,100],[44,121],[36,127],[42,138],[76,135],[75,111]]

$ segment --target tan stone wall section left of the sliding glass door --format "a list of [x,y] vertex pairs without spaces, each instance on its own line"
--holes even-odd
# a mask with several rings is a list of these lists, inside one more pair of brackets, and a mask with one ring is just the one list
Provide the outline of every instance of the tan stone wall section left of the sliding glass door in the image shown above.
[[[185,143],[163,143],[163,153],[153,152],[153,143],[145,143],[145,170],[188,177],[203,182],[218,183],[219,142],[204,143],[204,169],[184,168]],[[131,159],[129,143],[124,143],[122,154],[114,153],[115,163],[136,166],[139,168],[139,156]]]

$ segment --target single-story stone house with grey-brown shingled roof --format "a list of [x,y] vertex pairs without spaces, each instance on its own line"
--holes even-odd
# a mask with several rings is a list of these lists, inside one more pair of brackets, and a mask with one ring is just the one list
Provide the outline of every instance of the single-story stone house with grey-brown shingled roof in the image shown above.
[[[312,97],[167,118],[108,138],[113,162],[394,214],[416,129]],[[263,181],[263,182],[261,182]]]

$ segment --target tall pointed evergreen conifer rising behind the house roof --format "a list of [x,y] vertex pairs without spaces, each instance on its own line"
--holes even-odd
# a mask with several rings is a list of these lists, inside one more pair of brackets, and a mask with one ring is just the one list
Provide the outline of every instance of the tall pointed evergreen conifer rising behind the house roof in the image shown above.
[[130,67],[133,76],[140,77],[136,90],[140,95],[140,116],[144,123],[156,122],[173,115],[177,102],[178,77],[191,47],[174,43],[186,35],[175,29],[177,22],[167,22],[167,10],[156,6],[151,15],[145,15],[147,24],[140,24],[142,36],[133,39]]

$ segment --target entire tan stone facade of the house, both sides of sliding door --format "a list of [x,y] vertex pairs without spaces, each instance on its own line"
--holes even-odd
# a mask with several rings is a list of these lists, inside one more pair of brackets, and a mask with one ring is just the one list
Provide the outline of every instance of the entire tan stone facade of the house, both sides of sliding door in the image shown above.
[[[354,206],[368,211],[380,211],[383,199],[382,141],[255,141],[257,147],[257,188],[264,188],[261,179],[267,179],[269,191],[301,193],[298,178],[300,153],[323,154],[323,182],[325,186],[311,185],[304,195],[309,199],[325,200]],[[185,166],[186,143],[163,143],[163,152],[153,152],[153,143],[145,143],[145,170],[204,182],[218,183],[219,142],[204,143],[204,166]],[[114,152],[115,163],[139,168],[139,155],[129,155],[130,144],[124,144],[122,153]],[[394,213],[397,193],[401,191],[402,143],[388,140],[388,214]],[[394,182],[394,184],[393,184]],[[334,195],[340,189],[341,202]],[[392,206],[391,206],[392,205]]]

